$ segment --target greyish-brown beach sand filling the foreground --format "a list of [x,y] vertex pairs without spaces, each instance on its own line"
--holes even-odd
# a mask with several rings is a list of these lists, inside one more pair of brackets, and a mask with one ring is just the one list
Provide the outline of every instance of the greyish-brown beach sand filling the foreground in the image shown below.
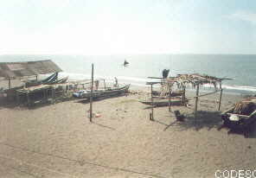
[[[174,123],[168,107],[155,108],[150,121],[148,105],[138,102],[145,97],[138,92],[96,101],[100,117],[93,123],[89,104],[80,100],[1,107],[0,177],[214,177],[218,169],[255,169],[256,134],[218,130],[214,97],[201,100],[196,123],[195,100],[192,109],[171,107],[186,116]],[[221,111],[240,99],[224,92]]]

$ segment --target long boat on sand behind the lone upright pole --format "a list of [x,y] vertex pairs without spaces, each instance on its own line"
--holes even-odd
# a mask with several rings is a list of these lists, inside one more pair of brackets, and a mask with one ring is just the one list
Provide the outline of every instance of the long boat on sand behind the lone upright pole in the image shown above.
[[[128,92],[129,87],[130,87],[130,84],[125,86],[120,86],[120,87],[112,87],[112,88],[108,87],[106,89],[94,90],[93,99],[100,98],[100,97],[112,97],[112,96],[124,94],[125,92]],[[91,91],[81,90],[79,92],[74,92],[73,96],[79,99],[89,99],[91,96]]]

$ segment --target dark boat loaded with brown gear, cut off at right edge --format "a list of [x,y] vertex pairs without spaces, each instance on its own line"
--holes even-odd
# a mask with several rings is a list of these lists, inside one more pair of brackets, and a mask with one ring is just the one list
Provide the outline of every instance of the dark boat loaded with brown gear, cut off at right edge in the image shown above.
[[222,112],[224,125],[230,129],[249,129],[256,121],[256,98],[246,99]]

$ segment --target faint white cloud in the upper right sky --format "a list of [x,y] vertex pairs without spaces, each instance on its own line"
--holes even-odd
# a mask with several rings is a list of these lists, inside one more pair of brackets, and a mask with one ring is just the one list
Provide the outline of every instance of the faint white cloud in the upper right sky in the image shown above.
[[231,19],[256,23],[256,13],[250,11],[237,11],[229,16]]

